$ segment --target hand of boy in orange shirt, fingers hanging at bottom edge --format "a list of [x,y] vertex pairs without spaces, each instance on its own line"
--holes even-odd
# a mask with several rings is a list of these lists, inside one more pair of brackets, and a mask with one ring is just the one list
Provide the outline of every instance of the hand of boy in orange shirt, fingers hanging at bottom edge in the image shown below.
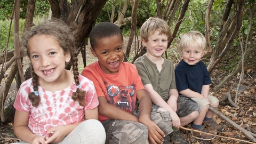
[[153,143],[163,143],[165,137],[164,132],[154,123],[153,121],[149,121],[146,126],[148,127],[148,140]]

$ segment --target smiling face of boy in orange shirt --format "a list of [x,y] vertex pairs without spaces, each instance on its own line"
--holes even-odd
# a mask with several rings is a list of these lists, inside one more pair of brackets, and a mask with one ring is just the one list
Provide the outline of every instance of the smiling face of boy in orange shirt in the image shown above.
[[105,74],[116,74],[124,58],[123,40],[120,35],[103,37],[91,52],[99,60],[100,68]]

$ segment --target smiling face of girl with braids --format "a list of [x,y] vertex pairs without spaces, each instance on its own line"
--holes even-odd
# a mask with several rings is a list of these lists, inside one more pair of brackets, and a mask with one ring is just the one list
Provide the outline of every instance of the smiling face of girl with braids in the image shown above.
[[28,50],[39,83],[58,83],[65,79],[66,62],[70,53],[64,53],[55,37],[35,35],[28,41]]

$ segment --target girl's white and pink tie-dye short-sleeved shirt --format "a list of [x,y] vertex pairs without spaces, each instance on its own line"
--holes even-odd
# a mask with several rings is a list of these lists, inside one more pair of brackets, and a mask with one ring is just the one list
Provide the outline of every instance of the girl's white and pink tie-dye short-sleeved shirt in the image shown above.
[[80,86],[86,91],[85,106],[71,99],[76,91],[75,81],[66,89],[56,92],[45,91],[38,86],[38,94],[41,102],[33,107],[28,98],[28,93],[34,91],[32,78],[23,82],[14,102],[14,108],[29,111],[28,127],[34,134],[45,136],[45,131],[58,125],[67,125],[83,121],[84,110],[90,110],[99,105],[97,93],[92,81],[79,75]]

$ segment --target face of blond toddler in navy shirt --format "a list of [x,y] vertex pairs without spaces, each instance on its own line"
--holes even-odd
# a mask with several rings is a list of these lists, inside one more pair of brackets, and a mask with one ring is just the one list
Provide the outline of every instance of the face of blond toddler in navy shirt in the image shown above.
[[183,60],[188,63],[188,65],[196,65],[197,62],[201,60],[204,55],[202,48],[195,44],[194,46],[185,46],[183,47],[181,53]]

